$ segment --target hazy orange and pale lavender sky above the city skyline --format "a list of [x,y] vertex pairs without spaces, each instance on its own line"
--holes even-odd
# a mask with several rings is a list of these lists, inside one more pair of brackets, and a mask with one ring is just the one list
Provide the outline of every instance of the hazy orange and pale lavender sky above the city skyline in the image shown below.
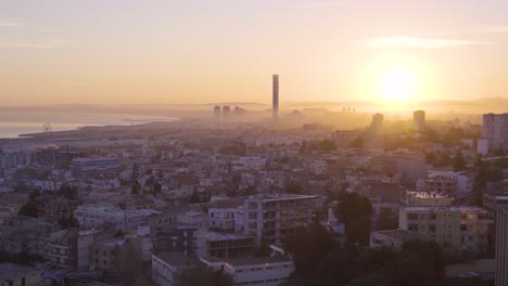
[[406,100],[505,96],[506,11],[506,0],[0,0],[0,105],[269,103],[272,74],[281,103],[383,101],[393,69],[414,81]]

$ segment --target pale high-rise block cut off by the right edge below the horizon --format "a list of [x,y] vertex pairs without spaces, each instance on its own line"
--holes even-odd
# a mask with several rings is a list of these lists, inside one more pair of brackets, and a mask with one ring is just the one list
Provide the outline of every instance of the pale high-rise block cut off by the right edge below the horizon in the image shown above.
[[492,150],[508,147],[508,114],[484,114],[483,136]]

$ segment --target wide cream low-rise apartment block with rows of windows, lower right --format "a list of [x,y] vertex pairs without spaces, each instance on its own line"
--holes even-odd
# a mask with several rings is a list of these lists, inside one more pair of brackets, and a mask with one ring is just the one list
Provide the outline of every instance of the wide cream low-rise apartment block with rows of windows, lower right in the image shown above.
[[478,207],[402,207],[398,226],[432,237],[445,248],[484,251],[488,211]]

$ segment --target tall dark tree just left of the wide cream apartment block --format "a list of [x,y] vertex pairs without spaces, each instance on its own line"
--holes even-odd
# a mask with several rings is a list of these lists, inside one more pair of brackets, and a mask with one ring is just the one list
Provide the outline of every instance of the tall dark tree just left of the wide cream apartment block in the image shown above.
[[358,193],[341,192],[334,210],[339,221],[344,223],[346,243],[367,244],[370,235],[372,205]]

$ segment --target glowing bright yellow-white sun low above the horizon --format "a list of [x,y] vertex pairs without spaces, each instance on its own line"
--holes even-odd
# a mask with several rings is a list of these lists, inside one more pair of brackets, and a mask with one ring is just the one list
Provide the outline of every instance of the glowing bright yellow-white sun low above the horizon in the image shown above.
[[385,101],[404,102],[415,95],[416,80],[412,73],[405,68],[385,70],[378,84],[378,92]]

